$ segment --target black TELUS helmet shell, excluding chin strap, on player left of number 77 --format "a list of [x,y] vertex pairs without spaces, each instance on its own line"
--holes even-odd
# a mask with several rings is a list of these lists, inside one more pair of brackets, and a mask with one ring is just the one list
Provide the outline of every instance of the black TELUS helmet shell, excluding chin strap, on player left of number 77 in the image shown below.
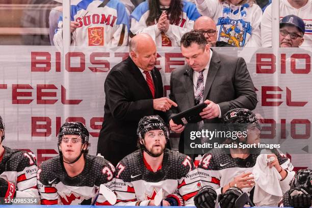
[[64,135],[79,135],[81,136],[82,143],[87,144],[89,142],[89,132],[86,126],[82,122],[66,122],[59,131],[58,144],[62,142]]

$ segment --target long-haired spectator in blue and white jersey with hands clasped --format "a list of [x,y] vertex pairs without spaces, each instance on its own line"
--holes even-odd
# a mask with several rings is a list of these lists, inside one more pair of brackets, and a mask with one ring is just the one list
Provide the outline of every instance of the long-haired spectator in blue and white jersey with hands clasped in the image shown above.
[[198,17],[196,6],[186,0],[146,1],[131,14],[130,36],[148,33],[157,46],[179,46]]

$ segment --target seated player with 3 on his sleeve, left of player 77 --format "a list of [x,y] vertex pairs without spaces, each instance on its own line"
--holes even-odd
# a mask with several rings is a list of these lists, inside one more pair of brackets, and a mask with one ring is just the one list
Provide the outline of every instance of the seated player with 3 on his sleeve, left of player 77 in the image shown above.
[[81,122],[66,122],[58,136],[60,155],[44,161],[37,174],[41,204],[110,205],[98,195],[101,184],[114,190],[114,166],[88,154],[89,132]]

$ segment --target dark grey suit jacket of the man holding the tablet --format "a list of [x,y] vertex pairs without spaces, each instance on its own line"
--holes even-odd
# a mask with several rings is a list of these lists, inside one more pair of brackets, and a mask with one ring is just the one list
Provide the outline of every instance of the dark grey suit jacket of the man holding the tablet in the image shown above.
[[[167,112],[169,119],[195,106],[192,68],[184,65],[172,71],[169,97],[178,105],[177,108],[172,107]],[[255,109],[257,98],[245,60],[213,51],[203,98],[217,103],[220,106],[221,116],[235,108]],[[220,123],[220,119],[205,119],[204,123]],[[185,142],[186,146],[189,146],[190,139],[186,139]],[[179,151],[185,152],[184,133],[181,133]]]

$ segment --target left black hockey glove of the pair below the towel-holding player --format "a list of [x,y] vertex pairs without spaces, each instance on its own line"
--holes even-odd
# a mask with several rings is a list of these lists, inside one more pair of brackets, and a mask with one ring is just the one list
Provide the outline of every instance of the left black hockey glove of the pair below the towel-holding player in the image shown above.
[[217,193],[211,186],[202,187],[194,197],[197,208],[214,208],[216,204]]

